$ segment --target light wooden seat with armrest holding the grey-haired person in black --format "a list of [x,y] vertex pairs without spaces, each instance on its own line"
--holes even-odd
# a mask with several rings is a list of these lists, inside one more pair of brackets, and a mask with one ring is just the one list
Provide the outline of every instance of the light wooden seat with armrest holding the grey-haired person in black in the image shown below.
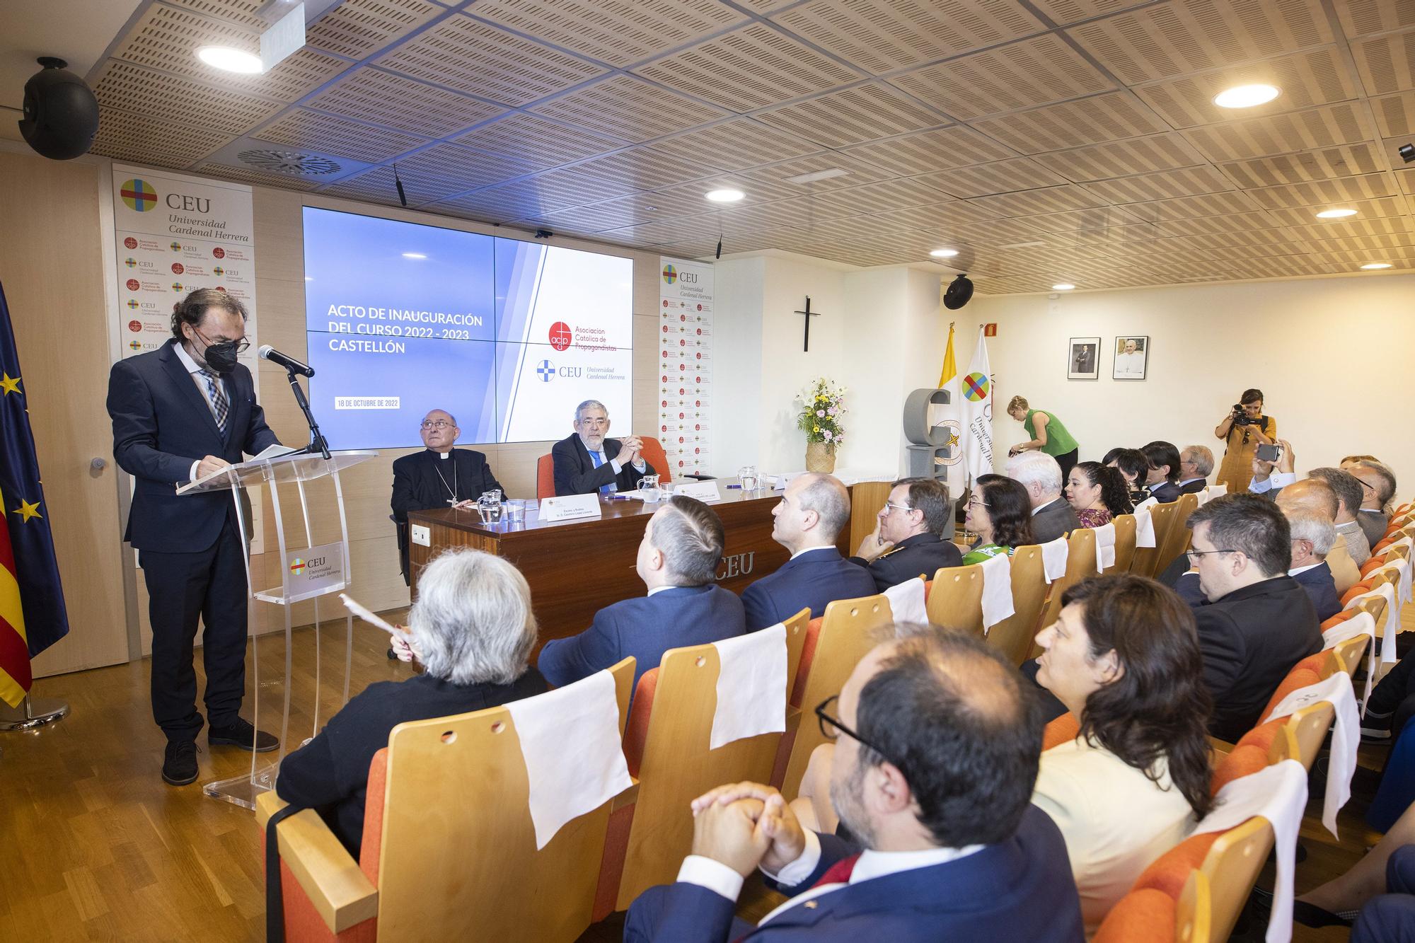
[[[634,658],[608,671],[623,729]],[[508,708],[399,724],[369,765],[358,862],[314,810],[276,825],[286,939],[574,940],[611,803],[538,851],[528,793]],[[283,807],[273,791],[256,799],[262,835]]]

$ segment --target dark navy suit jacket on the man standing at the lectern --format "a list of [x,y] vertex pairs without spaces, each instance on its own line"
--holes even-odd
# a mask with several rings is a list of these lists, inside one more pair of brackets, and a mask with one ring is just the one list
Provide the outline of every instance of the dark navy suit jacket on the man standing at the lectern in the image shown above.
[[235,464],[242,452],[256,455],[280,440],[256,404],[250,371],[241,364],[222,378],[229,404],[222,438],[174,343],[113,364],[108,415],[113,459],[137,477],[123,539],[140,551],[191,554],[216,542],[228,515],[235,525],[229,491],[177,494],[177,486],[191,480],[191,463],[215,455]]

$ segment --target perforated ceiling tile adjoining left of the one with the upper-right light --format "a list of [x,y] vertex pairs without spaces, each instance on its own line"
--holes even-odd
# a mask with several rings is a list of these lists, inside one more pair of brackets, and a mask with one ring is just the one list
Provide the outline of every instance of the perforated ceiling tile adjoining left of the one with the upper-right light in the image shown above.
[[1075,102],[1046,105],[974,122],[972,126],[1023,154],[1169,130],[1165,122],[1129,92],[1107,92]]

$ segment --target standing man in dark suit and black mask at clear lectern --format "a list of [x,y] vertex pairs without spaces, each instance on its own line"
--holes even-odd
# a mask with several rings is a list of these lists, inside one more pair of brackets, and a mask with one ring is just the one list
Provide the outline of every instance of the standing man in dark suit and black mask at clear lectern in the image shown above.
[[123,539],[137,549],[153,624],[153,719],[167,735],[163,780],[197,779],[197,673],[192,641],[205,624],[207,742],[259,753],[275,736],[242,719],[246,685],[246,571],[229,490],[177,487],[279,445],[256,404],[250,371],[236,362],[246,310],[219,289],[173,306],[173,338],[113,364],[108,415],[113,457],[136,476]]

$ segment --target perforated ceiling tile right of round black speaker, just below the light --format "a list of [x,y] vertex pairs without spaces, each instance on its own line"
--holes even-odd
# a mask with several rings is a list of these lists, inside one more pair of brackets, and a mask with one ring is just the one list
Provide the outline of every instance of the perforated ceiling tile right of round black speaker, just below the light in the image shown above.
[[117,108],[161,120],[241,135],[280,110],[279,102],[161,75],[109,59],[93,84],[102,109]]

